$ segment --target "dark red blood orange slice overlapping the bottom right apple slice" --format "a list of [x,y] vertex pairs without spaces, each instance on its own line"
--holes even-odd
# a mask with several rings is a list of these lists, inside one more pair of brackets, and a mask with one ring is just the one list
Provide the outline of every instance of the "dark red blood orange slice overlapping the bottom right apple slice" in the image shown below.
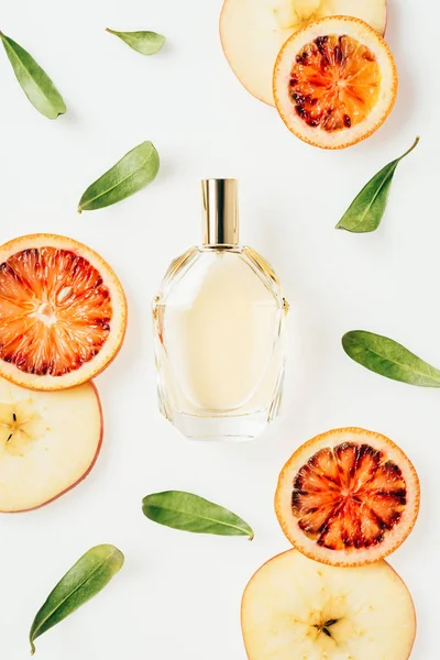
[[387,557],[413,530],[420,486],[392,440],[363,429],[337,429],[300,447],[284,466],[275,510],[300,552],[332,565]]

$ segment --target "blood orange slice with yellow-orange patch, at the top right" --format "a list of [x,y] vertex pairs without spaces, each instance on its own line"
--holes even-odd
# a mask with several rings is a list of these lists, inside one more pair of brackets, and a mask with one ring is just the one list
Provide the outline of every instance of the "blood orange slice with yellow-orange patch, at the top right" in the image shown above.
[[275,105],[283,121],[295,135],[322,148],[344,148],[374,133],[396,94],[391,51],[359,19],[327,18],[299,30],[275,65]]

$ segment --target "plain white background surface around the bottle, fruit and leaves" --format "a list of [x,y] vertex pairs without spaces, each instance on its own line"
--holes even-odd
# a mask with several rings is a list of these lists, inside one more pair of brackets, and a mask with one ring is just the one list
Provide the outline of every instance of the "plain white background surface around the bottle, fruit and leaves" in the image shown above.
[[[418,469],[419,521],[391,561],[418,609],[413,659],[437,659],[440,392],[363,370],[340,339],[376,331],[440,366],[439,4],[389,0],[397,105],[378,133],[340,153],[299,142],[235,80],[218,37],[221,0],[1,4],[0,29],[50,73],[68,113],[40,116],[0,53],[0,239],[55,232],[88,243],[120,276],[130,322],[118,360],[97,381],[106,435],[94,472],[46,508],[0,518],[0,656],[28,658],[28,631],[48,591],[88,548],[112,542],[125,554],[122,572],[37,641],[38,657],[244,660],[242,590],[288,548],[273,512],[277,474],[305,440],[353,425],[388,435]],[[106,26],[155,30],[168,43],[146,58]],[[362,185],[417,134],[380,230],[336,231]],[[144,140],[161,154],[157,180],[78,216],[84,189]],[[240,179],[242,238],[273,263],[292,304],[284,411],[251,444],[189,443],[156,409],[151,299],[168,262],[200,239],[199,179],[208,176]],[[253,525],[254,542],[150,522],[142,497],[167,488],[232,508]]]

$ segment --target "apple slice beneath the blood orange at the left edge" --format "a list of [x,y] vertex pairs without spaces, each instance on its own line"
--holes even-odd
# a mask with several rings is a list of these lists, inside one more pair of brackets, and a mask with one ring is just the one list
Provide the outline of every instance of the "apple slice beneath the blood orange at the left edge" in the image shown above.
[[35,392],[0,378],[0,512],[24,512],[82,481],[98,458],[102,415],[91,383]]

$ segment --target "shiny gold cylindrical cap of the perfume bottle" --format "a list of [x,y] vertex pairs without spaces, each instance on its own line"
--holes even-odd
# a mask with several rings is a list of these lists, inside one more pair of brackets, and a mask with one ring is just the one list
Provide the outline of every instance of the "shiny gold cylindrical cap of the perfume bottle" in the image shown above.
[[239,244],[237,179],[205,179],[204,245]]

